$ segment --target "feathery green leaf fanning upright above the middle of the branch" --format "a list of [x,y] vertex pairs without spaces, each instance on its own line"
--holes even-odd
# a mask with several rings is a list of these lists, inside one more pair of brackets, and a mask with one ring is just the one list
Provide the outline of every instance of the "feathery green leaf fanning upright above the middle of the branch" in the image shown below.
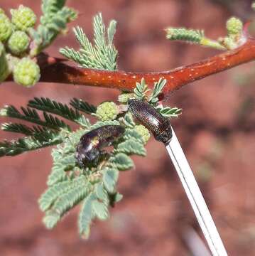
[[94,16],[94,46],[79,26],[74,28],[77,41],[80,43],[80,50],[65,47],[60,53],[66,58],[74,60],[83,68],[97,68],[100,70],[116,70],[117,50],[113,45],[116,21],[110,21],[107,29],[104,26],[102,14]]

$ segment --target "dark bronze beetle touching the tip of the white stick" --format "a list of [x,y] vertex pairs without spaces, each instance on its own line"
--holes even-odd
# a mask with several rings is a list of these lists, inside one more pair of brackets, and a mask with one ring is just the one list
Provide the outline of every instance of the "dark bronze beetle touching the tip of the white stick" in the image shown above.
[[170,142],[172,128],[166,117],[143,100],[131,99],[128,104],[134,117],[153,133],[156,140],[164,144]]

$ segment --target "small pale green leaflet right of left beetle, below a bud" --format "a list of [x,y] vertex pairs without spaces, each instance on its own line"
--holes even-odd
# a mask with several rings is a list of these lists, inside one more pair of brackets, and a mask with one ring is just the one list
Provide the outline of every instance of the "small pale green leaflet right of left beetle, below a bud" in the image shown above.
[[128,139],[125,142],[121,142],[116,151],[126,154],[137,154],[139,156],[146,156],[146,149],[141,142],[135,139]]

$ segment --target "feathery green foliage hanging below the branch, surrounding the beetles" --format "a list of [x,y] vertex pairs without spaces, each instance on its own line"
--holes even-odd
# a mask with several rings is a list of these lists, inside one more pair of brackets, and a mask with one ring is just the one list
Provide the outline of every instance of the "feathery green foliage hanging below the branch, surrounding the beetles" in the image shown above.
[[[146,95],[149,90],[144,80],[137,85],[138,88],[136,87],[134,92],[136,97],[149,100],[165,115],[173,117],[179,114],[178,108],[158,106],[158,95],[166,85],[166,80],[160,79],[156,82],[151,95]],[[1,129],[4,131],[25,134],[26,137],[12,142],[0,142],[0,156],[14,156],[45,146],[57,145],[51,153],[53,166],[48,176],[48,188],[38,201],[40,209],[45,213],[43,223],[51,229],[69,210],[81,204],[79,230],[82,237],[88,238],[92,221],[95,218],[107,220],[109,207],[121,200],[122,196],[116,190],[119,171],[134,167],[131,155],[146,156],[144,146],[150,134],[145,127],[136,125],[128,111],[124,110],[118,116],[115,115],[113,120],[99,119],[90,124],[82,112],[97,117],[97,107],[77,99],[71,100],[70,105],[73,108],[49,98],[35,97],[26,107],[21,107],[21,111],[14,106],[4,107],[0,111],[1,116],[21,119],[36,125],[29,127],[18,123],[2,124]],[[114,107],[119,109],[115,104]],[[80,128],[72,131],[58,118],[59,116],[79,124]],[[77,164],[76,147],[83,134],[104,125],[120,124],[125,127],[125,132],[112,143],[112,151],[104,152],[96,163],[88,163],[83,167]]]

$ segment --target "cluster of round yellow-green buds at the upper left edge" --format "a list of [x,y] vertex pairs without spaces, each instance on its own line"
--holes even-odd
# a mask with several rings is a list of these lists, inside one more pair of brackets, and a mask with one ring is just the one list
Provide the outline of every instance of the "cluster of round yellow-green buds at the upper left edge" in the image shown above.
[[[23,5],[11,9],[11,19],[0,9],[0,82],[11,73],[20,85],[31,87],[40,79],[40,68],[29,58],[30,28],[36,24],[36,14]],[[15,62],[15,63],[13,63]]]

